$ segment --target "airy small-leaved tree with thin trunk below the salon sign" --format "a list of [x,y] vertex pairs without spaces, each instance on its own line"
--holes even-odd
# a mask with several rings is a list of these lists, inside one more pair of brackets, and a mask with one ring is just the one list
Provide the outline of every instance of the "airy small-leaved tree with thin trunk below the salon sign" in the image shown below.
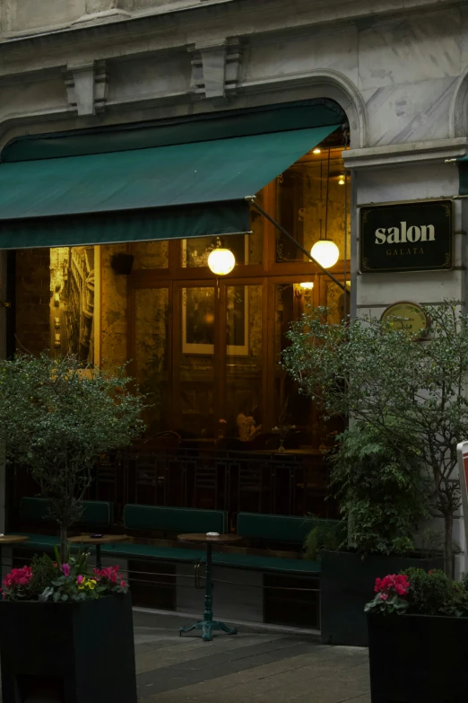
[[456,301],[427,306],[423,340],[407,321],[369,315],[341,324],[318,308],[293,324],[283,364],[325,411],[346,415],[417,453],[429,468],[445,523],[445,570],[452,571],[454,514],[460,506],[456,444],[468,436],[468,315]]

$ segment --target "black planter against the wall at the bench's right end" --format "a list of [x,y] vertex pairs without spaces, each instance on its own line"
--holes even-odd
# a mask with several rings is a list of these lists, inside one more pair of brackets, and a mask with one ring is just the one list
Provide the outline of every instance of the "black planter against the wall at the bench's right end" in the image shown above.
[[[377,576],[409,567],[443,568],[443,559],[369,556],[323,551],[320,557],[320,629],[327,645],[368,646],[364,606],[375,595]],[[466,696],[468,701],[468,692]]]

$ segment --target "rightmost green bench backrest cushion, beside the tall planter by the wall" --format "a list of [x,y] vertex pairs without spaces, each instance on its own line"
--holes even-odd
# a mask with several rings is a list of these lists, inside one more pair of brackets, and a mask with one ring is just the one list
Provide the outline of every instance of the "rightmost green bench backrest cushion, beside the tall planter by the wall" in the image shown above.
[[290,517],[288,515],[264,515],[239,513],[236,532],[249,540],[265,540],[303,544],[317,523],[336,523],[338,520],[323,520],[316,517]]

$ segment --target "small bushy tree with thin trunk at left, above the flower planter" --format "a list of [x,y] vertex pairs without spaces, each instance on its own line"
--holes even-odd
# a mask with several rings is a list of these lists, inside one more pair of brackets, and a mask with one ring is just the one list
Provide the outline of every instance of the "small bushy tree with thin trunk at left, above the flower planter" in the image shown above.
[[129,382],[125,369],[109,374],[73,355],[0,362],[0,440],[7,458],[28,466],[49,498],[62,561],[98,454],[129,444],[143,429],[143,397]]

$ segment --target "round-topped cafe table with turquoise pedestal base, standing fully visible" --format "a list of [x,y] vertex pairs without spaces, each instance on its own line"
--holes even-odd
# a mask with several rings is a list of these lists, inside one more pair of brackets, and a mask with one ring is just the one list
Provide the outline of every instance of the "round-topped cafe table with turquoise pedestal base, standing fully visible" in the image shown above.
[[227,632],[228,635],[237,635],[236,628],[228,628],[224,622],[212,619],[212,547],[213,545],[230,544],[241,540],[238,534],[215,534],[215,533],[192,533],[179,534],[178,540],[189,544],[204,544],[206,549],[206,576],[205,576],[205,591],[204,591],[204,620],[198,620],[193,625],[188,625],[186,628],[179,629],[179,636],[184,632],[191,632],[194,629],[202,630],[202,639],[204,642],[212,641],[212,633],[214,630],[221,629]]

